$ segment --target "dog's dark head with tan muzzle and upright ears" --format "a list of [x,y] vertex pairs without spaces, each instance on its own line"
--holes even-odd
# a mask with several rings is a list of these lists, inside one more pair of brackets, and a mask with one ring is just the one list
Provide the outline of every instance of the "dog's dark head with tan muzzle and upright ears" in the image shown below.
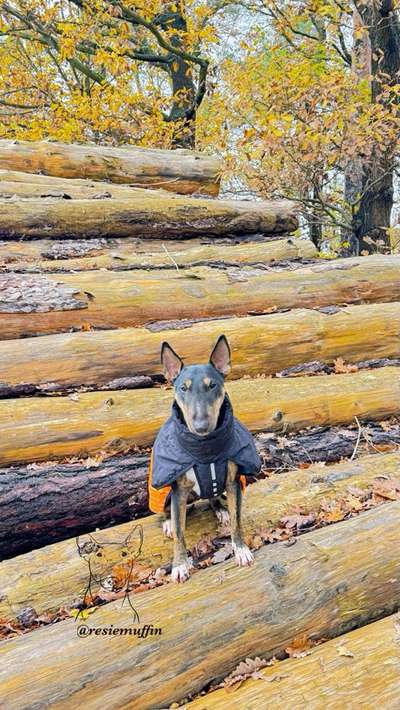
[[217,426],[225,397],[224,380],[231,369],[231,352],[225,335],[218,338],[207,365],[185,366],[171,346],[161,346],[164,374],[172,382],[175,400],[189,431],[207,436]]

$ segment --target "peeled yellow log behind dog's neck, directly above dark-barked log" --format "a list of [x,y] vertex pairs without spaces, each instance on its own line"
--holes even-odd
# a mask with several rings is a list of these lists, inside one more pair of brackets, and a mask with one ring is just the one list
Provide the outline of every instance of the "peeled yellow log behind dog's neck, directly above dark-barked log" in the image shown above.
[[[400,369],[382,367],[329,377],[245,379],[227,384],[236,416],[253,432],[298,431],[400,411]],[[72,398],[71,398],[72,397]],[[21,397],[0,402],[0,463],[147,446],[169,415],[161,389]]]

